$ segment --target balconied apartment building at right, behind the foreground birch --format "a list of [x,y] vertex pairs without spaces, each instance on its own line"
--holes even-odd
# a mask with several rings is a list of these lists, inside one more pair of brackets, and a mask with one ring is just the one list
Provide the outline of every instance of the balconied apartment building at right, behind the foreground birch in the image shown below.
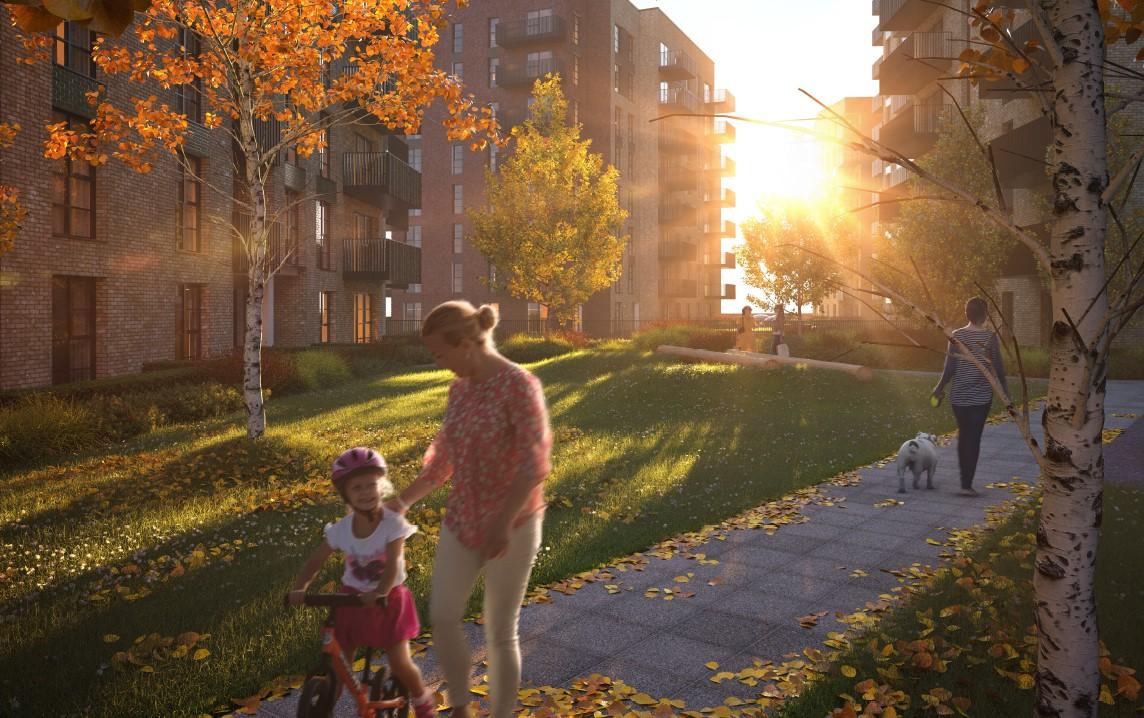
[[[1026,41],[1039,38],[1024,0],[998,0],[992,5],[1017,13],[1011,34],[1018,46],[1024,47]],[[1042,158],[1051,141],[1049,118],[1038,98],[1008,80],[974,86],[969,80],[950,79],[956,72],[958,55],[970,42],[966,13],[971,2],[960,0],[956,6],[950,8],[927,0],[874,0],[877,25],[872,40],[883,48],[882,57],[873,66],[873,78],[879,81],[879,95],[874,97],[874,137],[909,157],[929,151],[937,141],[940,119],[952,110],[950,97],[938,85],[939,79],[962,107],[984,104],[985,127],[980,138],[992,150],[1010,217],[1018,225],[1038,229],[1048,242],[1047,208],[1050,207],[1051,188]],[[1034,61],[1043,56],[1043,47],[1041,41],[1038,49],[1030,50]],[[1120,43],[1111,47],[1109,54],[1122,65],[1138,65],[1136,48]],[[1030,81],[1025,87],[1035,81],[1033,72],[1026,73]],[[1107,82],[1138,85],[1138,80],[1125,79],[1109,79]],[[1137,87],[1133,91],[1138,90]],[[1141,111],[1134,111],[1136,115],[1129,118],[1129,128],[1125,131],[1139,133],[1144,126]],[[906,170],[877,160],[872,167],[874,185],[881,185],[882,197],[900,196]],[[1134,194],[1139,197],[1141,191],[1136,189]],[[1131,206],[1139,207],[1137,197],[1129,202]],[[879,220],[891,221],[898,207],[893,204],[880,206]],[[879,231],[876,223],[874,231]],[[1014,327],[1020,343],[1048,341],[1051,325],[1048,288],[1027,249],[1015,244],[1001,276],[994,278],[994,290],[1004,319]],[[1137,326],[1126,333],[1126,340],[1144,337],[1141,324],[1137,321]]]

